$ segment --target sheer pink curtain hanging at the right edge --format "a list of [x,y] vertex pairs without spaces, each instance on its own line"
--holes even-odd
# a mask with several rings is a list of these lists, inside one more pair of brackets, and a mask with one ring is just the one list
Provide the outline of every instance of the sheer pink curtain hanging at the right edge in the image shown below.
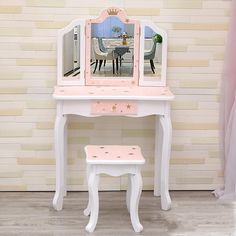
[[232,16],[223,72],[224,186],[214,191],[221,200],[236,200],[236,0]]

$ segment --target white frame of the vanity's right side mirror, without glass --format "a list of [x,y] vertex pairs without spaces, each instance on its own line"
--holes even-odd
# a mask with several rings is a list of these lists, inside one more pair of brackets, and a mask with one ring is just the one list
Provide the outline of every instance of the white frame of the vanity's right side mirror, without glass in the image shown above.
[[[145,48],[145,27],[151,28],[154,32],[162,36],[162,60],[161,79],[158,81],[145,80],[144,76],[144,48]],[[151,21],[141,21],[140,33],[140,55],[139,55],[139,86],[166,86],[167,70],[167,33]],[[148,77],[147,78],[153,78]]]

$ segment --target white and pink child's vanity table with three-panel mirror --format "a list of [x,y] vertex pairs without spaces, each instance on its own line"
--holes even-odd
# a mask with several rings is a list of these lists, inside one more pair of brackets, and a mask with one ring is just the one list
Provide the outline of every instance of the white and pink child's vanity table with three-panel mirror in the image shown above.
[[[122,62],[128,70],[127,74],[112,75],[109,65],[104,66],[99,76],[93,77],[93,58],[91,39],[99,31],[98,25],[107,24],[107,20],[115,21],[129,30],[134,38],[134,55],[130,62]],[[105,22],[105,23],[104,23]],[[153,75],[145,66],[145,32],[159,34],[163,39],[161,75]],[[76,34],[76,37],[74,37]],[[104,35],[105,36],[105,33]],[[74,43],[76,38],[77,43]],[[99,116],[128,116],[144,117],[156,116],[155,136],[155,165],[154,165],[154,195],[161,197],[161,208],[171,207],[169,196],[169,160],[171,151],[172,126],[170,118],[170,101],[174,99],[166,87],[167,67],[167,35],[164,30],[148,21],[136,21],[127,18],[126,13],[119,8],[108,8],[102,11],[96,19],[87,21],[75,20],[58,32],[57,51],[57,86],[53,98],[57,102],[55,121],[55,155],[56,155],[56,193],[53,206],[56,210],[63,207],[66,196],[66,123],[68,115],[84,117]],[[154,42],[155,43],[155,42]],[[71,63],[75,55],[68,53],[68,44],[77,45],[73,53],[78,61]],[[132,65],[130,65],[132,63]],[[148,62],[149,63],[149,62]],[[70,66],[68,67],[68,64]],[[76,65],[75,65],[76,64]],[[65,66],[66,65],[66,66]],[[148,64],[149,65],[149,64]],[[71,76],[71,71],[78,71],[78,75]]]

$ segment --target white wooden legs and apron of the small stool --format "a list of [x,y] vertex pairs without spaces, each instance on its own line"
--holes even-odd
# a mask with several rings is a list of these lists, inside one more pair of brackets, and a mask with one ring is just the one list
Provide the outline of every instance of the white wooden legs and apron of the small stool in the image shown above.
[[[120,161],[110,160],[109,162],[104,162],[100,159],[88,159],[88,147],[85,147],[85,152],[88,167],[89,201],[87,208],[84,210],[84,215],[88,216],[90,213],[90,219],[86,226],[86,230],[88,232],[93,232],[97,224],[99,211],[98,178],[100,174],[104,173],[111,176],[128,174],[130,184],[126,195],[127,209],[130,212],[130,219],[134,231],[141,232],[143,226],[140,224],[138,216],[138,206],[142,192],[140,167],[144,164],[145,160],[143,159],[143,161],[140,162],[139,160],[132,158],[131,161],[133,164],[126,164],[126,162],[121,159]],[[108,153],[111,153],[111,151],[108,151]],[[120,155],[122,154],[123,153]]]

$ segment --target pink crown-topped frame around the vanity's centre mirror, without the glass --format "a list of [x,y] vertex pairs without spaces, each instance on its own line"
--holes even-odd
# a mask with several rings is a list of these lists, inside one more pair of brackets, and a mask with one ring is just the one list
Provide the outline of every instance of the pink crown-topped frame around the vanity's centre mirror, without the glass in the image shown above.
[[[134,24],[134,65],[133,65],[133,76],[132,77],[101,77],[92,78],[91,76],[91,25],[92,23],[102,23],[106,18],[110,16],[118,17],[123,23]],[[110,86],[138,86],[139,80],[139,21],[130,20],[124,10],[110,7],[101,12],[100,16],[96,19],[90,19],[86,21],[86,68],[85,68],[85,83],[86,85],[110,85]],[[106,78],[106,79],[105,79]]]

